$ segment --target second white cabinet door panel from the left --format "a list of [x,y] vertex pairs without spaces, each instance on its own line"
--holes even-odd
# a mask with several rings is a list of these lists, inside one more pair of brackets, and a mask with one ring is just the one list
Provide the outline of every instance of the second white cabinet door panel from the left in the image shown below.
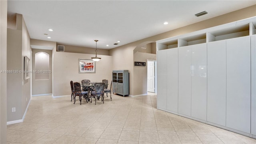
[[167,110],[178,112],[178,48],[167,50]]

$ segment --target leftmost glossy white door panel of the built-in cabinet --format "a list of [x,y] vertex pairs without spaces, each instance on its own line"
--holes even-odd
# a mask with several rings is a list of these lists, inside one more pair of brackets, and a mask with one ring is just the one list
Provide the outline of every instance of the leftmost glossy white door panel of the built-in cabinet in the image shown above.
[[157,107],[166,110],[167,95],[167,54],[166,50],[157,52]]

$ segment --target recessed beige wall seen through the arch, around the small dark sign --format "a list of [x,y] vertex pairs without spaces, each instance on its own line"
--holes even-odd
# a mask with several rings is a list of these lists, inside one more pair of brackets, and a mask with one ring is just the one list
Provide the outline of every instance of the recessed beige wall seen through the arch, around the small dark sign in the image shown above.
[[156,42],[146,41],[133,50],[134,62],[146,62],[146,66],[134,65],[134,96],[147,94],[147,60],[156,61]]

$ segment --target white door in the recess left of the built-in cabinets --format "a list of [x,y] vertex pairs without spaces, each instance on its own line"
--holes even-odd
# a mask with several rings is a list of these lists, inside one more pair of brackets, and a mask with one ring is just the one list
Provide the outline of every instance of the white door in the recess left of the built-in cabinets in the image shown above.
[[155,92],[155,62],[148,61],[148,92]]

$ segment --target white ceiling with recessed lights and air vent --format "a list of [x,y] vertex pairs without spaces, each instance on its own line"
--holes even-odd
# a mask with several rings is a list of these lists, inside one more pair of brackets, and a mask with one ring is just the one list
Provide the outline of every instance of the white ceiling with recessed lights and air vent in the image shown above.
[[[97,39],[97,48],[111,49],[254,4],[256,0],[8,0],[8,14],[23,15],[32,39],[91,48]],[[208,14],[194,16],[202,11]]]

